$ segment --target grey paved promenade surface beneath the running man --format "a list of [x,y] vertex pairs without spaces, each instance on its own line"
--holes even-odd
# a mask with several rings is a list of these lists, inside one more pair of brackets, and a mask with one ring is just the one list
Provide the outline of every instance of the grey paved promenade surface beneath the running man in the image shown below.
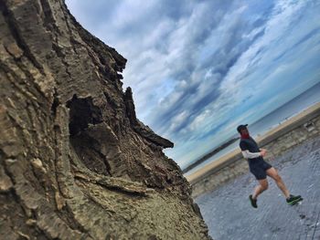
[[320,239],[320,137],[287,151],[270,162],[293,194],[304,201],[290,206],[272,179],[268,191],[251,207],[248,196],[256,185],[250,172],[211,193],[197,197],[215,240]]

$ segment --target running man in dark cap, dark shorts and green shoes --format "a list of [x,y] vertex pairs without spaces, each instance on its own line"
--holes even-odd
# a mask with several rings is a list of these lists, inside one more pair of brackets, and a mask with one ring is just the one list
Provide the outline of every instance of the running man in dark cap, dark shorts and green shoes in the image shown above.
[[283,183],[283,179],[275,170],[275,168],[263,160],[263,157],[267,154],[267,151],[258,147],[257,142],[251,138],[247,126],[248,124],[240,125],[238,126],[237,130],[240,133],[240,149],[242,151],[242,155],[248,160],[250,172],[260,183],[254,189],[253,194],[249,196],[252,207],[258,207],[258,196],[268,189],[267,175],[275,181],[277,186],[283,192],[288,204],[293,205],[294,203],[302,201],[303,198],[300,195],[294,196],[289,193],[288,189]]

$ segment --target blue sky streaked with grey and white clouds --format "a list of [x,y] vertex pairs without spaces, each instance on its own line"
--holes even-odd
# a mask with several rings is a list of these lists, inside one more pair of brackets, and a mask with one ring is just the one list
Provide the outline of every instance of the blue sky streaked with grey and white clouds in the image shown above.
[[182,168],[319,82],[320,1],[66,0]]

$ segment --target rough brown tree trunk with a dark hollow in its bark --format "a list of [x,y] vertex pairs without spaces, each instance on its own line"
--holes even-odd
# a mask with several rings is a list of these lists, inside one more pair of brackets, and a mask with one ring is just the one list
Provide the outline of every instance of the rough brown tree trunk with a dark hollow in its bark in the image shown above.
[[123,93],[126,59],[62,0],[0,11],[0,238],[209,239],[173,143]]

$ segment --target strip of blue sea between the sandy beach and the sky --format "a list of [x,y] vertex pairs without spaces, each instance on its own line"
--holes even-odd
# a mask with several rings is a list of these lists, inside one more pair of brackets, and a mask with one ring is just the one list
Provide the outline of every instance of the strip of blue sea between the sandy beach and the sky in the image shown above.
[[[284,121],[289,120],[299,114],[300,112],[306,110],[307,108],[315,105],[320,102],[320,82],[315,84],[310,89],[305,90],[302,94],[298,95],[294,99],[286,102],[280,108],[273,110],[268,115],[261,118],[261,120],[257,120],[253,124],[250,125],[250,132],[253,138],[263,135],[265,132],[272,130],[278,125],[282,124]],[[230,151],[239,148],[239,141],[235,141],[230,144],[227,148],[217,152],[215,155],[211,156],[205,162],[201,162],[195,168],[186,172],[184,175],[187,176],[193,172],[196,172],[198,169],[203,168],[208,165],[210,162],[214,162],[218,160],[223,155],[229,153]]]

